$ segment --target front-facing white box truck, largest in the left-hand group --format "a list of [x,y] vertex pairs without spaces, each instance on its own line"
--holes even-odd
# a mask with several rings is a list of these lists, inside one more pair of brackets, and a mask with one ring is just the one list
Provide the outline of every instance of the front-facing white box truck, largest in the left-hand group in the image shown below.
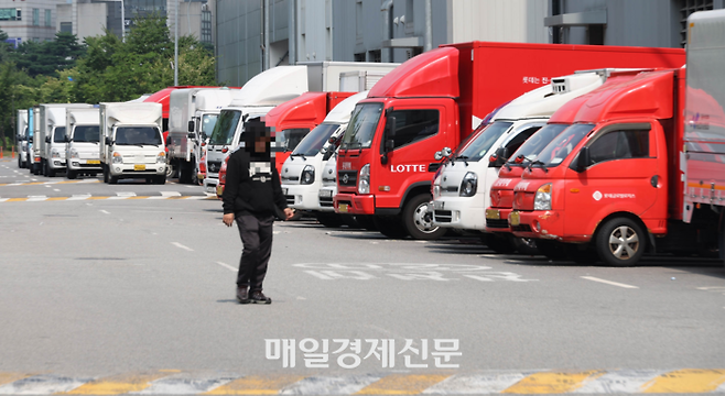
[[145,178],[166,183],[166,153],[161,135],[161,103],[100,103],[100,166],[104,182]]

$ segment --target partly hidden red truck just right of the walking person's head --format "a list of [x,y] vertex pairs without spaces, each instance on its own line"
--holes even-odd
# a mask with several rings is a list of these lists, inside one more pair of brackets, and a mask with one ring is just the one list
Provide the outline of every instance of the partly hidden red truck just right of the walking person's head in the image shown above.
[[357,92],[306,92],[289,100],[263,117],[264,125],[274,132],[274,161],[277,172],[282,175],[282,164],[294,147],[325,120],[327,113],[348,97]]

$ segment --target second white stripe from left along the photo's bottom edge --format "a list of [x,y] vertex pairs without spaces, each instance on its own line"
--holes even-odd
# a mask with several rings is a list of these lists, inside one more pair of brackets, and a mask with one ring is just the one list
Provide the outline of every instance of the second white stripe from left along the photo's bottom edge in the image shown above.
[[150,386],[139,395],[195,395],[239,378],[236,374],[216,374],[207,377],[197,377],[191,373],[181,373],[151,382]]

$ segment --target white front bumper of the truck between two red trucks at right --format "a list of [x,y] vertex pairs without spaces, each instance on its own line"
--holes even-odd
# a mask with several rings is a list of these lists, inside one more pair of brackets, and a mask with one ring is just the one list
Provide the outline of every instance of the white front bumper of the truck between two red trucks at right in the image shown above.
[[433,226],[484,231],[484,208],[472,206],[473,198],[444,197],[433,201]]

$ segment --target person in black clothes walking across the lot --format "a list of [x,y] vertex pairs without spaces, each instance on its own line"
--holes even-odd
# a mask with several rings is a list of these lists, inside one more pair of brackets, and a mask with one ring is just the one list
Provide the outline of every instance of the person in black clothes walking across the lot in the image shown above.
[[282,195],[280,176],[270,157],[270,134],[259,124],[248,125],[245,142],[229,155],[224,188],[223,221],[237,221],[242,251],[237,274],[237,300],[240,304],[272,304],[262,293],[267,265],[272,253],[272,224],[279,213],[284,220],[294,216]]

